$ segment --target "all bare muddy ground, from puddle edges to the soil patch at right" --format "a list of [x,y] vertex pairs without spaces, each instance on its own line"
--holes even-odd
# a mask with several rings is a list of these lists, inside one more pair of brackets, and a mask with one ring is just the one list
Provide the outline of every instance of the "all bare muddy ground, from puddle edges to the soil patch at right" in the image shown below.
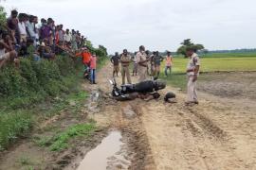
[[[98,73],[97,85],[83,84],[93,95],[84,103],[79,119],[64,116],[55,121],[70,125],[94,119],[99,131],[92,138],[75,140],[72,148],[54,154],[29,139],[22,140],[2,157],[0,169],[22,169],[17,158],[24,153],[38,161],[35,169],[76,169],[112,129],[121,131],[120,154],[126,161],[110,159],[107,169],[256,169],[255,73],[202,78],[198,83],[200,104],[194,107],[186,107],[185,94],[173,87],[162,91],[157,101],[114,101],[108,94],[111,73],[107,64]],[[164,93],[170,91],[177,94],[175,104],[163,102]],[[243,97],[234,98],[235,92]],[[96,93],[100,96],[95,100]]]

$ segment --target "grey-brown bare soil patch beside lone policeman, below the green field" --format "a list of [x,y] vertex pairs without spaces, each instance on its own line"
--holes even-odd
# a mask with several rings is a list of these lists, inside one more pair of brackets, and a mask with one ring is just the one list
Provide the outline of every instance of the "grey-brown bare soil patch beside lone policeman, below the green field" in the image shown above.
[[199,91],[220,97],[256,100],[256,72],[203,74]]

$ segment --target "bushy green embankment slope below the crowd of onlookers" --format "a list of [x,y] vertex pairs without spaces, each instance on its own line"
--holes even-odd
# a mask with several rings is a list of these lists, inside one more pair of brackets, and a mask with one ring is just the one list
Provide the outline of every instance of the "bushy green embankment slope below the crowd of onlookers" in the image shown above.
[[[99,67],[105,60],[105,57],[98,60]],[[22,59],[19,69],[9,65],[1,70],[0,150],[6,149],[17,138],[27,137],[32,127],[37,127],[40,122],[70,108],[70,102],[76,104],[71,112],[81,110],[88,96],[82,91],[81,84],[81,60],[67,56],[58,56],[54,61]],[[82,127],[85,129],[86,126]],[[82,131],[82,127],[74,127],[71,131]],[[64,143],[66,141],[64,139]]]

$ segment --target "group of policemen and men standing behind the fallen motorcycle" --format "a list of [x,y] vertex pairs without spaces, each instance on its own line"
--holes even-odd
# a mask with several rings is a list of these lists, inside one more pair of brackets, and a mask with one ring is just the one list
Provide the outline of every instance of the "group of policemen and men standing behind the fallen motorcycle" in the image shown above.
[[[122,84],[125,84],[125,79],[128,83],[132,83],[130,74],[130,65],[132,65],[132,76],[139,76],[138,81],[143,81],[147,76],[158,78],[160,74],[161,62],[165,59],[165,76],[171,76],[173,67],[173,56],[170,51],[167,56],[162,57],[158,51],[150,53],[144,46],[139,47],[139,51],[134,54],[128,53],[127,49],[119,55],[118,52],[110,59],[113,63],[113,76],[119,76],[119,64],[121,65]],[[169,71],[169,73],[168,73]]]

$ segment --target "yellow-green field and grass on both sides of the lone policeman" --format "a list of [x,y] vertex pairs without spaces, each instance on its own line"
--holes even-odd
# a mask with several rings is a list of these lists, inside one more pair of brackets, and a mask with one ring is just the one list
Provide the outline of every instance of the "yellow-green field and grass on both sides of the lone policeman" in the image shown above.
[[[174,56],[174,68],[172,76],[161,77],[166,79],[168,83],[174,87],[179,87],[182,90],[186,89],[186,75],[185,70],[188,63],[188,59],[184,59],[182,56]],[[162,69],[164,70],[165,63],[162,63]],[[242,72],[242,71],[256,71],[256,54],[255,53],[225,53],[225,54],[208,54],[201,57],[201,72]],[[207,74],[202,74],[199,77],[204,79]]]

